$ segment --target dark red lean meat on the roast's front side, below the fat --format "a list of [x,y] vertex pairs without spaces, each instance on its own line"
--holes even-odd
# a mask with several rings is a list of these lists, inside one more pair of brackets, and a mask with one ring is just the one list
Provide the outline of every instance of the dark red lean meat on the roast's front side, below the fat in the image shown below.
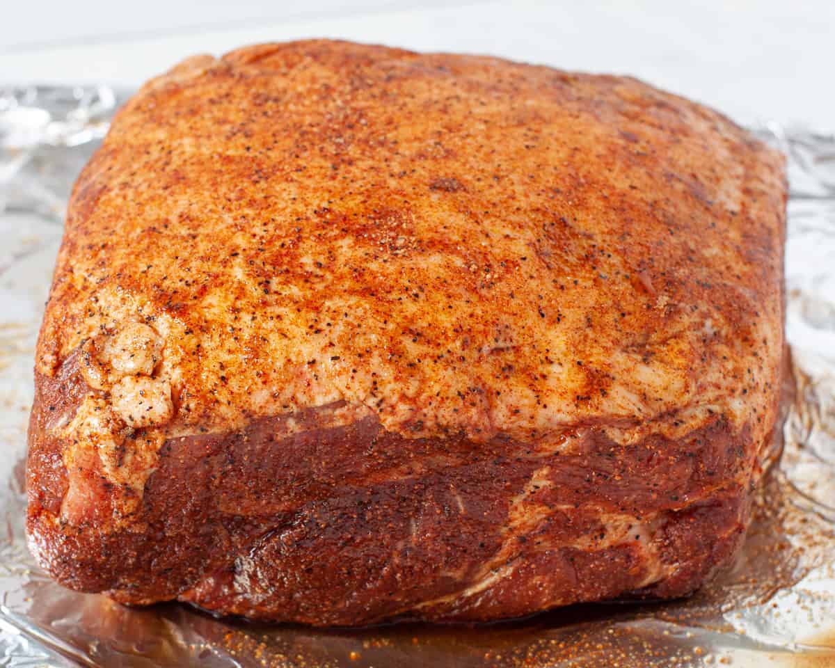
[[[505,546],[511,574],[409,614],[481,620],[630,590],[686,595],[740,543],[751,490],[738,481],[748,479],[746,452],[759,449],[721,414],[681,440],[620,446],[590,428],[572,453],[542,455],[503,438],[403,438],[375,418],[316,428],[311,410],[294,416],[302,429],[282,440],[276,417],[170,439],[144,489],[146,529],[108,534],[94,516],[77,526],[57,519],[67,477],[47,424],[88,391],[76,356],[36,387],[28,530],[53,577],[116,600],[179,597],[313,624],[371,623],[463,590],[501,549],[512,499],[544,466],[554,484],[528,498],[553,510]],[[109,483],[95,465],[86,474],[101,497],[93,507],[108,512]],[[595,548],[605,545],[605,513],[651,519],[652,549],[661,564],[677,564],[671,576],[635,590],[652,565],[645,546]]]

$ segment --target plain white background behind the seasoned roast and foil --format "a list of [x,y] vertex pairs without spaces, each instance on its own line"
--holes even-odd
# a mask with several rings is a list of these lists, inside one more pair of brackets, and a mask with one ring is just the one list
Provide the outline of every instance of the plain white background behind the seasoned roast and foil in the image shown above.
[[0,84],[135,87],[192,53],[323,36],[630,73],[743,124],[835,130],[835,0],[2,0]]

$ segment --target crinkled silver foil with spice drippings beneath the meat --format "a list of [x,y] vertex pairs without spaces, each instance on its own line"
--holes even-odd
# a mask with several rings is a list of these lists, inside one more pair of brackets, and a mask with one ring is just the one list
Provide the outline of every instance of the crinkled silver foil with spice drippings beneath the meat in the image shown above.
[[311,630],[129,609],[53,583],[23,534],[33,347],[69,189],[106,88],[0,89],[0,665],[835,666],[835,136],[771,126],[789,159],[784,452],[736,565],[688,600],[466,626]]

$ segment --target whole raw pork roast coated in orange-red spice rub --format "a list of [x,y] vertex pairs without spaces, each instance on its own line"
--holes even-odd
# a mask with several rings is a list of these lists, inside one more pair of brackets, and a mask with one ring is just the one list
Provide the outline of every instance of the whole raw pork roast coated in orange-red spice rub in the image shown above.
[[783,171],[633,78],[331,41],[180,63],[73,191],[33,553],[314,625],[696,590],[778,428]]

